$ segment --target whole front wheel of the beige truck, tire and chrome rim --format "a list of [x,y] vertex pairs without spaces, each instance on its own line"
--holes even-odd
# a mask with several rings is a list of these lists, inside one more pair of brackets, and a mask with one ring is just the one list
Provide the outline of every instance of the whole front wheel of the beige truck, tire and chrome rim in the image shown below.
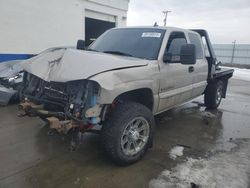
[[154,117],[145,106],[119,104],[101,131],[104,152],[115,163],[128,165],[141,159],[152,143]]

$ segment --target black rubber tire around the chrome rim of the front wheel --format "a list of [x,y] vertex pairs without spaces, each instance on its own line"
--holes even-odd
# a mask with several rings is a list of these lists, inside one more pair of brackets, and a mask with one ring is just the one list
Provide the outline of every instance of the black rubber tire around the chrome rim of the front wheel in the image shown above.
[[[143,117],[148,122],[149,137],[143,149],[133,156],[128,156],[122,150],[121,137],[127,124],[137,117]],[[140,160],[152,145],[154,126],[153,114],[146,106],[135,102],[118,104],[103,124],[100,135],[102,149],[116,164],[123,166],[132,164]]]

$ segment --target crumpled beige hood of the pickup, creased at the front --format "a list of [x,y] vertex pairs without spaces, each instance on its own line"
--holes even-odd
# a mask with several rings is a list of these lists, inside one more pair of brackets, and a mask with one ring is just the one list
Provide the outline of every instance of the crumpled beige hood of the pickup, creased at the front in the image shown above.
[[87,79],[101,72],[147,64],[148,60],[67,48],[51,49],[21,63],[27,72],[54,82]]

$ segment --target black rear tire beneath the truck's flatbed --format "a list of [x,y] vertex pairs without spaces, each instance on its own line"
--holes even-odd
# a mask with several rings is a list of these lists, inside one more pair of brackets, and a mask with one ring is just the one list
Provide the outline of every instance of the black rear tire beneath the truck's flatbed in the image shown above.
[[[222,96],[223,96],[223,87],[224,87],[224,84],[222,81],[217,81],[217,82],[208,84],[206,91],[205,91],[205,95],[204,95],[205,106],[208,109],[213,110],[213,109],[218,108],[218,106],[221,103]],[[218,92],[220,92],[219,100],[217,100]]]

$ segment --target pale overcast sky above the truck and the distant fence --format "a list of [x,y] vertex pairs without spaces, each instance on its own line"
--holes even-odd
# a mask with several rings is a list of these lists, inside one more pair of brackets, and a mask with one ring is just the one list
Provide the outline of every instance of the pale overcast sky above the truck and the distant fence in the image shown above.
[[163,25],[204,28],[212,43],[250,44],[250,0],[130,0],[128,26]]

